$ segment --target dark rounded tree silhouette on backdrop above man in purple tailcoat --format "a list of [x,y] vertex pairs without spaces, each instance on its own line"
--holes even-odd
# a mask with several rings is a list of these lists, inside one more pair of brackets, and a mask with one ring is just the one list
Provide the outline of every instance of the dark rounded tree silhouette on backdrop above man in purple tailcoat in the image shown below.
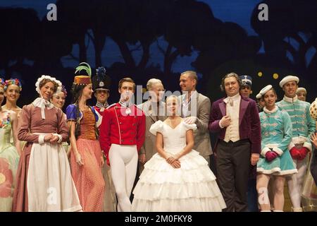
[[197,71],[203,74],[199,83],[208,84],[210,79],[216,81],[212,87],[202,87],[204,91],[218,90],[220,78],[224,75],[214,74],[213,71],[219,66],[228,61],[255,59],[261,48],[259,37],[247,35],[247,32],[236,23],[214,20],[209,25],[209,31],[209,35],[197,44],[199,56],[192,63]]

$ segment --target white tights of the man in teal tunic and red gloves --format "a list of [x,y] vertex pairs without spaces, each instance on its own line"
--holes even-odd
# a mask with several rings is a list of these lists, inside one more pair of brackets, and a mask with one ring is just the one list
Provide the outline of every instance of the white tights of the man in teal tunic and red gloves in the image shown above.
[[302,199],[301,194],[302,194],[303,181],[304,181],[304,177],[305,177],[306,169],[307,169],[307,157],[302,161],[293,160],[296,163],[296,168],[298,173],[292,174],[292,176],[286,177],[288,193],[290,194],[293,208],[301,207],[301,199]]

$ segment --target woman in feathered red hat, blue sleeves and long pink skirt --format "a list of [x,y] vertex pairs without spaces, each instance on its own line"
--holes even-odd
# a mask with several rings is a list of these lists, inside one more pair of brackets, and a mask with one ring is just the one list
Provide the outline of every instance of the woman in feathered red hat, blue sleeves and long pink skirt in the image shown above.
[[74,103],[66,109],[70,129],[70,166],[82,210],[101,212],[105,188],[101,174],[104,157],[97,139],[98,116],[94,108],[87,105],[93,93],[90,66],[82,63],[75,73],[80,75],[75,76],[73,83]]

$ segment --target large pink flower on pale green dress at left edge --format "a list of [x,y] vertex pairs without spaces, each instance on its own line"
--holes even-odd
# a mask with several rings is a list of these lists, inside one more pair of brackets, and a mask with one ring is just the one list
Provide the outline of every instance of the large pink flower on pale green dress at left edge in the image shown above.
[[13,175],[9,169],[8,161],[0,157],[0,197],[7,198],[11,196],[11,187],[13,184]]

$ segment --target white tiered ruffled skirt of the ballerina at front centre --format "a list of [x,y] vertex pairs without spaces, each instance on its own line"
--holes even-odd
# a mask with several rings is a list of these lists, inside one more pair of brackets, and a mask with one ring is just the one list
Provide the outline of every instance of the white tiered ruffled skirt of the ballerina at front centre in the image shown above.
[[151,157],[133,191],[132,211],[216,212],[226,207],[204,157],[192,150],[180,164],[175,169],[158,153]]

